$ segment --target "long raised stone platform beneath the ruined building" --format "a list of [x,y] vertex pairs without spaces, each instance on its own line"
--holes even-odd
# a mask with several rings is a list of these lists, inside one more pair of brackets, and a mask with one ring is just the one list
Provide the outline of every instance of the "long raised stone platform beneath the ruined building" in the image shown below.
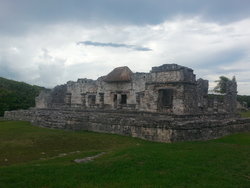
[[8,120],[30,121],[42,127],[114,133],[158,142],[209,140],[250,132],[250,118],[228,114],[166,115],[79,109],[7,111]]

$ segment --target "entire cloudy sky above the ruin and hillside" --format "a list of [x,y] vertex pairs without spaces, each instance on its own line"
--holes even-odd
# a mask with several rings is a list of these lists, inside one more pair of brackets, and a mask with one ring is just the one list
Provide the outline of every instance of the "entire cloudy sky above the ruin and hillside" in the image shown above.
[[0,76],[54,87],[176,63],[250,95],[249,0],[0,0]]

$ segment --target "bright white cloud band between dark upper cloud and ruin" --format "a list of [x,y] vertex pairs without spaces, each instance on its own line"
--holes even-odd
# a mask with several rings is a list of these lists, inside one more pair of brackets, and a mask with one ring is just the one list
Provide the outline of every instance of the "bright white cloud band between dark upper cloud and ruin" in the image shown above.
[[[152,66],[177,63],[193,68],[211,85],[221,75],[235,75],[240,94],[250,94],[249,36],[250,19],[226,25],[198,17],[142,26],[64,23],[34,28],[19,37],[0,36],[0,67],[19,74],[22,81],[51,87],[79,77],[96,79],[117,66],[148,72]],[[145,46],[152,51],[77,45],[78,41]]]

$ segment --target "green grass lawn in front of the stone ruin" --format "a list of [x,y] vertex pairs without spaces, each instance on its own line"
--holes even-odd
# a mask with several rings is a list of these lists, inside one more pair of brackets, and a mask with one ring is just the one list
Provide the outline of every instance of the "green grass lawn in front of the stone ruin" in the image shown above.
[[0,165],[0,187],[247,188],[250,133],[168,144],[0,121]]

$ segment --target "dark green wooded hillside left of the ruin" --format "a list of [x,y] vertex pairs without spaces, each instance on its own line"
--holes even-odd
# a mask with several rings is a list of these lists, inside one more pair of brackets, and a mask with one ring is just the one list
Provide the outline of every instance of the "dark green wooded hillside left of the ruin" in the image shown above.
[[35,97],[42,89],[44,88],[0,77],[0,116],[7,110],[35,106]]

